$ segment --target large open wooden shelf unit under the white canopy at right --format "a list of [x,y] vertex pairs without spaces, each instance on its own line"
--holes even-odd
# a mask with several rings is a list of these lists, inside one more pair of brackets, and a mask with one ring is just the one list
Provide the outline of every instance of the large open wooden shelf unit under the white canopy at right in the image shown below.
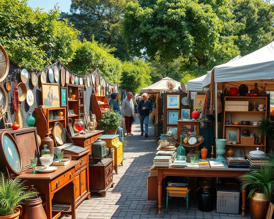
[[[253,103],[256,102],[256,105],[258,104],[265,104],[265,108],[267,109],[267,97],[225,97],[224,103],[226,101],[248,101],[249,102],[249,110],[252,110]],[[229,119],[230,121],[230,114],[234,114],[233,122],[238,121],[251,121],[251,125],[225,125],[225,119]],[[225,128],[226,127],[239,127],[240,130],[240,139],[243,129],[249,129],[249,133],[255,133],[255,136],[259,136],[259,125],[252,125],[252,122],[259,121],[261,117],[267,117],[267,110],[265,111],[226,111],[224,107],[224,113],[223,113],[223,138],[226,139],[226,133]],[[245,148],[245,155],[247,155],[250,151],[256,150],[256,147],[259,147],[259,150],[265,151],[265,144],[266,144],[266,138],[263,136],[263,145],[244,145],[244,144],[238,144],[238,145],[232,145],[231,143],[226,144],[226,154],[229,147],[244,147]]]

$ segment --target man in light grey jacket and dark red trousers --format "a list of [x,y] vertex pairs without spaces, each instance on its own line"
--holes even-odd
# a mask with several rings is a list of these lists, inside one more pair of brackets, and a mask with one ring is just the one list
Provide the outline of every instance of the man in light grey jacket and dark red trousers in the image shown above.
[[131,132],[131,125],[134,116],[134,104],[132,101],[132,93],[128,92],[126,98],[122,102],[122,115],[125,118],[126,132],[127,135],[133,135]]

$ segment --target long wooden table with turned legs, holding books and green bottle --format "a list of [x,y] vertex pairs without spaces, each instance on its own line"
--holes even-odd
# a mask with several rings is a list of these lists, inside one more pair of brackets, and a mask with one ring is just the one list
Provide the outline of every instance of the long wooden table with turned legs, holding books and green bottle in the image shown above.
[[[206,169],[206,168],[155,168],[158,169],[158,213],[162,211],[162,181],[166,176],[190,176],[190,177],[239,177],[250,169],[228,168]],[[242,216],[245,216],[245,193],[242,190]]]

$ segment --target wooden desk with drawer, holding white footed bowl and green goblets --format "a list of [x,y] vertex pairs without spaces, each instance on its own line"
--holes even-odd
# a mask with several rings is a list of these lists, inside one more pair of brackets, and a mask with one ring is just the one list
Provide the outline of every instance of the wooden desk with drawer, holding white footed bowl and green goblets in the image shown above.
[[[26,186],[34,185],[39,192],[41,198],[46,199],[47,219],[59,218],[62,214],[71,215],[72,219],[76,219],[75,215],[75,165],[80,161],[70,161],[66,166],[57,166],[57,170],[52,173],[36,173],[32,174],[33,169],[23,171],[18,177],[26,180]],[[53,211],[52,202],[70,204],[70,210]],[[54,216],[53,216],[54,215]]]

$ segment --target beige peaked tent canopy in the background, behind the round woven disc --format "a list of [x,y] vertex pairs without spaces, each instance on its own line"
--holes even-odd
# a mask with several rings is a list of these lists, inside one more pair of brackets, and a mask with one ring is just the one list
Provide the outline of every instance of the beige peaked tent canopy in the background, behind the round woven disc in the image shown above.
[[[165,77],[162,78],[160,81],[155,82],[154,84],[151,84],[145,88],[141,89],[141,93],[149,93],[149,94],[153,94],[153,93],[163,93],[165,90],[169,90],[168,87],[166,86],[166,83],[169,80],[173,80],[172,78],[169,77]],[[172,90],[178,90],[178,87],[181,87],[181,83],[174,80],[176,86],[175,88],[173,88]],[[183,84],[183,83],[182,83]],[[186,92],[186,87],[181,87],[183,92]]]

